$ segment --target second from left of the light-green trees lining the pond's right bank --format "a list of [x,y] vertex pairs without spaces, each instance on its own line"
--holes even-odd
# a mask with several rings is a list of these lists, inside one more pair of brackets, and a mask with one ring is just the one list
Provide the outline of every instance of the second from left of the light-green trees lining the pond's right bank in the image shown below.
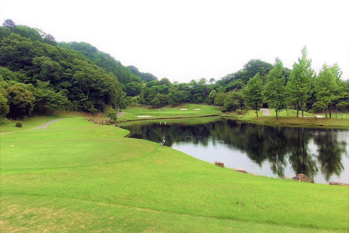
[[277,113],[285,109],[285,78],[282,75],[282,62],[278,61],[275,68],[267,76],[267,83],[263,90],[265,102],[269,108],[274,108]]

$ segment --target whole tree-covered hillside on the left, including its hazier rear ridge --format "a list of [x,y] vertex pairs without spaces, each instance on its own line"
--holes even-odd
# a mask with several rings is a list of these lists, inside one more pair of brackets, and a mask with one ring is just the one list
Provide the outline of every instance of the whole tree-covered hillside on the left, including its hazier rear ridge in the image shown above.
[[57,43],[52,35],[16,26],[12,20],[0,27],[1,116],[24,117],[58,108],[126,108],[122,88],[136,83],[139,94],[142,82],[130,68],[90,44]]

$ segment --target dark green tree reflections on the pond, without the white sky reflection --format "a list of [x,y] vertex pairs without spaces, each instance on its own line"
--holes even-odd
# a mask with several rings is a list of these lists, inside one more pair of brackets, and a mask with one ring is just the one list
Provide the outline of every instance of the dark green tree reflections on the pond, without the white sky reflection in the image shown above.
[[[165,122],[166,121],[166,122]],[[270,164],[273,174],[284,177],[290,167],[295,174],[309,177],[319,168],[326,181],[344,171],[343,156],[348,157],[348,130],[312,129],[257,125],[224,118],[166,119],[120,124],[131,131],[132,138],[154,142],[166,140],[166,146],[191,144],[200,147],[224,145],[232,152],[238,150],[262,167]],[[310,145],[317,147],[316,153]],[[313,153],[312,153],[313,152]],[[213,154],[215,152],[212,152]]]

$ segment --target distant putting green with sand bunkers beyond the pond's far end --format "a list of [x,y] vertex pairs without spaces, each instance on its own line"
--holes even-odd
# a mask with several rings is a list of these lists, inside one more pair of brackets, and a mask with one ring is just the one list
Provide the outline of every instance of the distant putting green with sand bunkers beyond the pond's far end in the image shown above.
[[[161,110],[159,112],[159,109]],[[166,111],[164,111],[166,109]],[[188,109],[188,110],[180,110]],[[193,110],[200,109],[200,110]],[[220,108],[213,105],[205,104],[191,104],[184,103],[179,105],[167,105],[161,108],[146,107],[141,105],[131,104],[127,106],[127,109],[122,109],[125,112],[123,116],[118,117],[119,120],[139,120],[145,119],[137,116],[153,116],[147,117],[148,119],[154,118],[180,118],[180,117],[198,117],[208,115],[220,115],[222,112]]]

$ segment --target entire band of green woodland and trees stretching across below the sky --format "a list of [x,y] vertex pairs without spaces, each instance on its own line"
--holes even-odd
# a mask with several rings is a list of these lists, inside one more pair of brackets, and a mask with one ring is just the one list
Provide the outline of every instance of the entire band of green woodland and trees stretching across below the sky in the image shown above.
[[[0,115],[23,118],[53,114],[55,110],[104,111],[125,109],[129,103],[153,107],[183,102],[215,104],[222,112],[258,109],[276,113],[347,111],[349,80],[343,81],[337,64],[311,68],[306,47],[292,67],[252,59],[219,80],[171,83],[123,66],[110,54],[85,42],[57,43],[37,28],[8,19],[0,27]],[[256,111],[258,116],[258,111]],[[302,115],[303,116],[303,115]]]

